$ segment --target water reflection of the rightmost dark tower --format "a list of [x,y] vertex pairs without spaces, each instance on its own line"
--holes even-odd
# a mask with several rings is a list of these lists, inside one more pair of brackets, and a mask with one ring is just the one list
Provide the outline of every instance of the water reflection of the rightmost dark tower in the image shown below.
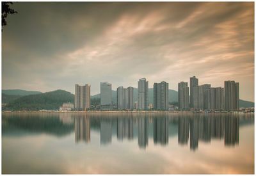
[[239,118],[228,116],[225,118],[225,145],[239,143]]

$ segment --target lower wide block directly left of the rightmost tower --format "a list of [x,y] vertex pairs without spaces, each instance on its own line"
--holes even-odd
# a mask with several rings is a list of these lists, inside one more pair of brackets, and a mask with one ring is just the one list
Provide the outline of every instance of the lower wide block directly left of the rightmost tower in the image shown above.
[[224,108],[224,89],[207,88],[207,109],[223,109]]

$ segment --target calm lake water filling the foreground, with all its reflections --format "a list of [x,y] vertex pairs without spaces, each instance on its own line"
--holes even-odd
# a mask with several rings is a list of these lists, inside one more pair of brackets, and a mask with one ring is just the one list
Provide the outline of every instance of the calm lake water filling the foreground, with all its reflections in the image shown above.
[[254,173],[254,114],[3,114],[2,172]]

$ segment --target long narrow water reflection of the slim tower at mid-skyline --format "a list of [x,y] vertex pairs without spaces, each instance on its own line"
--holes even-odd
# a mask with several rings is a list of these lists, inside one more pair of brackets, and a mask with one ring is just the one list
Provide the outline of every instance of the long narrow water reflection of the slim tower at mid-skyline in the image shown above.
[[146,148],[148,145],[148,118],[138,118],[138,145]]

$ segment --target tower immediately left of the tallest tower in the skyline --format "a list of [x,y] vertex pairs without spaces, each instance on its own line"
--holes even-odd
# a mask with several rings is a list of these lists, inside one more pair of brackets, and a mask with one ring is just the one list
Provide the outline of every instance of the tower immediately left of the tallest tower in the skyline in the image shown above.
[[187,82],[178,84],[178,103],[180,109],[189,109],[189,88]]

